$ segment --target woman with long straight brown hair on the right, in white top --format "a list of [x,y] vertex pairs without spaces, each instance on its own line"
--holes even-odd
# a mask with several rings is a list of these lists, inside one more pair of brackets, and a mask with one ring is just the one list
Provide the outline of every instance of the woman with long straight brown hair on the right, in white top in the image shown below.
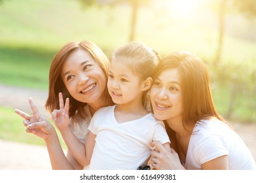
[[256,169],[246,144],[215,109],[202,59],[174,52],[160,61],[153,80],[153,112],[172,142],[170,152],[152,143],[155,169]]

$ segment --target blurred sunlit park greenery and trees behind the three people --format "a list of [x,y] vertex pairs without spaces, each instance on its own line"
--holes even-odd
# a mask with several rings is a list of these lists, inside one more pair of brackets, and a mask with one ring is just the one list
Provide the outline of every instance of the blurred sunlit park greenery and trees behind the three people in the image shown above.
[[192,52],[208,66],[219,114],[256,124],[255,0],[0,0],[0,139],[44,144],[13,108],[28,106],[25,91],[43,93],[43,107],[52,58],[81,40],[107,56],[131,41],[162,56]]

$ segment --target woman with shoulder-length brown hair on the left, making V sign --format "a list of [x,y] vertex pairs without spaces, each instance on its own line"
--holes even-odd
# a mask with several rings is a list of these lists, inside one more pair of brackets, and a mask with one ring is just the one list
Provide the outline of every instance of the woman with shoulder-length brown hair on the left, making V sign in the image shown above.
[[[108,69],[107,56],[96,44],[88,41],[68,42],[54,57],[50,65],[46,108],[53,118],[56,117],[55,125],[66,143],[72,138],[84,143],[96,110],[113,105],[107,92]],[[53,125],[41,116],[32,99],[29,99],[29,104],[32,116],[20,110],[15,112],[25,119],[27,133],[45,140],[52,169],[82,169],[70,149],[65,157]],[[62,119],[58,118],[60,115]],[[79,151],[79,148],[74,149]]]

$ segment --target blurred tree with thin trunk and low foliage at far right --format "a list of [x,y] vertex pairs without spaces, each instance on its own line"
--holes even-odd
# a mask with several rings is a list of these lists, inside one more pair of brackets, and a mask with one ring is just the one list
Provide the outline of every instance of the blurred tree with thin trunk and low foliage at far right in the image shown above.
[[[218,47],[213,60],[213,70],[218,76],[218,82],[223,85],[229,84],[230,102],[226,113],[226,118],[230,118],[235,108],[241,105],[237,99],[241,95],[246,95],[251,101],[255,101],[256,87],[248,78],[255,78],[255,69],[248,65],[230,65],[221,63],[221,52],[223,48],[223,38],[225,35],[225,16],[227,12],[240,13],[246,18],[253,20],[256,17],[256,1],[255,0],[220,0],[219,1],[219,39]],[[249,73],[251,69],[251,73]],[[239,74],[238,74],[239,73]],[[244,91],[246,88],[246,93]],[[241,93],[242,92],[242,93]],[[253,93],[253,94],[251,94]],[[251,111],[251,116],[255,115],[255,103],[248,103],[247,109]],[[246,107],[245,107],[246,108]],[[254,113],[253,113],[254,112]]]

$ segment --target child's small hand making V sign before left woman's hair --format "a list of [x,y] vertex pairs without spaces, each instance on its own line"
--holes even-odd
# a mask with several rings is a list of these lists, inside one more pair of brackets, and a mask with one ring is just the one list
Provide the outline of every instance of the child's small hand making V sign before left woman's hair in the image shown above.
[[65,131],[69,127],[69,98],[65,100],[62,93],[59,93],[60,109],[55,109],[52,112],[52,120],[54,120],[56,127],[60,131]]

